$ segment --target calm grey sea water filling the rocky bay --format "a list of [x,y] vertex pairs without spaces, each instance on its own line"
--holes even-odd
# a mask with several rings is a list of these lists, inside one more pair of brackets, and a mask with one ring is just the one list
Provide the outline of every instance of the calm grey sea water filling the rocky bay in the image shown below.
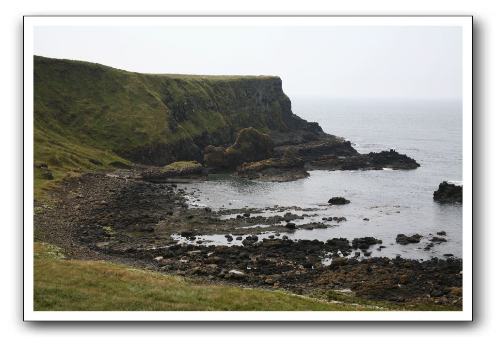
[[[360,153],[396,149],[414,158],[415,170],[310,171],[310,177],[291,182],[248,181],[228,175],[213,175],[202,183],[185,184],[195,191],[199,202],[192,206],[212,209],[300,206],[318,208],[317,216],[346,217],[326,229],[297,230],[292,239],[373,236],[386,246],[371,246],[372,256],[430,259],[450,253],[462,257],[462,205],[441,204],[433,193],[443,180],[462,183],[461,102],[441,101],[344,101],[293,99],[293,112],[316,121],[330,134],[345,137]],[[201,192],[201,193],[200,193]],[[329,206],[326,202],[342,196],[350,204]],[[280,214],[280,213],[279,213]],[[369,221],[364,221],[368,218]],[[302,224],[305,222],[297,222]],[[432,234],[446,231],[447,242],[425,251]],[[421,234],[420,243],[400,245],[396,235]],[[273,233],[259,235],[267,237]],[[228,244],[223,235],[202,236],[214,244]],[[233,241],[229,244],[240,244]],[[326,261],[324,257],[324,262]]]

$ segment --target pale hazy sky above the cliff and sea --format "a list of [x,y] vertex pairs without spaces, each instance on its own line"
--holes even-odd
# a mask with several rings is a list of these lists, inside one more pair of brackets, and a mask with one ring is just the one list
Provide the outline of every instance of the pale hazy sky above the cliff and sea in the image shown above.
[[298,98],[462,98],[458,26],[37,26],[35,55],[128,71],[277,75]]

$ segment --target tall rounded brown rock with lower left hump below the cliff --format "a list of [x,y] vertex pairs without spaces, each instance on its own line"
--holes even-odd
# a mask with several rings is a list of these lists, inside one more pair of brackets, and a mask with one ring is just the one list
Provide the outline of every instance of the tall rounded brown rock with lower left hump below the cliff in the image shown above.
[[203,162],[209,172],[233,172],[243,163],[274,157],[274,142],[268,135],[248,127],[238,132],[236,141],[227,149],[209,145],[204,154]]

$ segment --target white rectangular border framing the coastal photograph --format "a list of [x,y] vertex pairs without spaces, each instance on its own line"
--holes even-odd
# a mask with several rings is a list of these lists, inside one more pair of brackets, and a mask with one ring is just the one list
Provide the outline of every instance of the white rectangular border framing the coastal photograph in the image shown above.
[[[33,310],[33,55],[35,26],[462,26],[463,311],[459,312],[39,312]],[[25,16],[24,17],[24,320],[25,321],[471,321],[472,320],[472,17],[471,16]]]

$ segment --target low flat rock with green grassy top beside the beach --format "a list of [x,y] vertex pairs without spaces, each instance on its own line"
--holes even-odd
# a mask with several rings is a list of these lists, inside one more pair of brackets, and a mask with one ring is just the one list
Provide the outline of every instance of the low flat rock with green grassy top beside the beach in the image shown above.
[[143,171],[141,177],[150,182],[189,181],[205,177],[207,172],[198,162],[175,162],[163,168],[151,168]]

